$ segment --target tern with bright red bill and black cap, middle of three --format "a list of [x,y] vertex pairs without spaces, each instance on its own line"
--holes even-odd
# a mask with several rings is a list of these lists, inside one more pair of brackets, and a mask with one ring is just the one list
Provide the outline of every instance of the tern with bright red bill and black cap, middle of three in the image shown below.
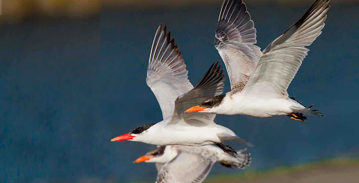
[[167,26],[161,27],[162,24],[153,40],[146,83],[158,100],[163,121],[143,125],[111,141],[130,140],[153,145],[217,144],[232,152],[233,149],[220,143],[230,140],[251,146],[232,130],[214,123],[215,114],[184,113],[188,107],[223,92],[223,70],[220,71],[218,62],[212,64],[193,88],[187,79],[188,71],[181,52],[174,45],[174,39],[171,40],[170,32],[166,34]]

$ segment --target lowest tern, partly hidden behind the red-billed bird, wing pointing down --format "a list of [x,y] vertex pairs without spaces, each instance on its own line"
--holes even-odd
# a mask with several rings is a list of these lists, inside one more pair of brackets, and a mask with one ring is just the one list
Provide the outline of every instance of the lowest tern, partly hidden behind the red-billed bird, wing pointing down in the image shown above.
[[210,172],[213,164],[245,168],[251,162],[246,149],[237,151],[236,157],[225,153],[219,147],[206,145],[200,147],[169,145],[150,150],[134,163],[158,163],[163,166],[158,170],[157,183],[160,182],[202,182]]

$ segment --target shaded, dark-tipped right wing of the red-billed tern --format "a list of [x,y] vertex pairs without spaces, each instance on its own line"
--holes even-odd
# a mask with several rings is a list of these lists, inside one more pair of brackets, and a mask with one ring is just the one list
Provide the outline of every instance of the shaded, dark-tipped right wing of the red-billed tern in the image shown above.
[[213,122],[216,114],[213,113],[185,113],[185,111],[201,103],[203,100],[219,95],[224,89],[223,70],[220,70],[218,61],[214,62],[202,77],[199,83],[189,92],[176,99],[173,116],[170,124],[186,123],[190,125],[203,125],[203,123],[215,125]]

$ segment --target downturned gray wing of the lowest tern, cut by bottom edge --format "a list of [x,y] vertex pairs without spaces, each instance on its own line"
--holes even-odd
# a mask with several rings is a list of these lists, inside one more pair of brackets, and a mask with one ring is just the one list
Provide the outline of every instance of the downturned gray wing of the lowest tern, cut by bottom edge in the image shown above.
[[190,151],[178,150],[178,154],[165,163],[157,175],[157,183],[200,183],[207,177],[214,156],[202,156]]

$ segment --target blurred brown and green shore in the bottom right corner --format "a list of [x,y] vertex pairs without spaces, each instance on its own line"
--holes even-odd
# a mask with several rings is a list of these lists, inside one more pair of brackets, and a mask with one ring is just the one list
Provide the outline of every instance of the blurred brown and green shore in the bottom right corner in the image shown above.
[[[359,157],[280,165],[263,170],[247,168],[242,173],[209,175],[204,183],[354,183],[359,180]],[[131,183],[150,183],[141,181]]]

